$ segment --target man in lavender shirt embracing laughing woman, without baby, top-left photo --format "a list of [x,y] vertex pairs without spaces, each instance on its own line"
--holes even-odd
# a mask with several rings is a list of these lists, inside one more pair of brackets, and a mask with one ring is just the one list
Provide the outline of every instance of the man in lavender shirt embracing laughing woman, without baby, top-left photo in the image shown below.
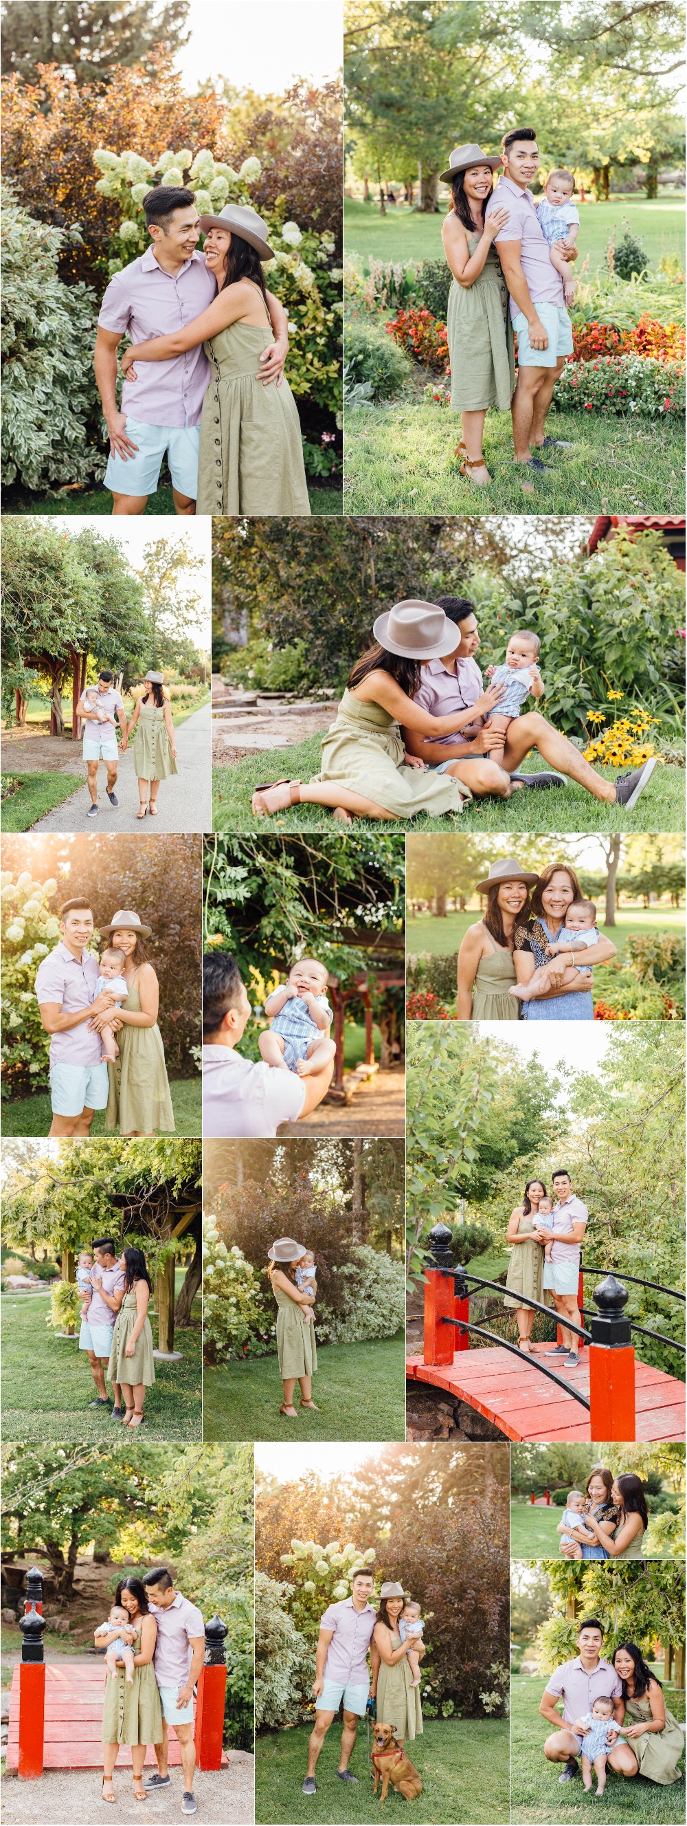
[[[191,190],[160,184],[144,197],[151,247],[117,272],[100,305],[95,341],[95,378],[109,433],[106,488],[113,513],[144,513],[168,458],[179,515],[195,513],[202,398],[210,362],[188,349],[169,362],[140,362],[137,380],[126,380],[117,407],[117,345],[128,331],[131,341],[169,336],[199,318],[217,296],[200,239]],[[288,354],[286,310],[268,292],[275,343],[261,354],[261,380],[281,380]]]

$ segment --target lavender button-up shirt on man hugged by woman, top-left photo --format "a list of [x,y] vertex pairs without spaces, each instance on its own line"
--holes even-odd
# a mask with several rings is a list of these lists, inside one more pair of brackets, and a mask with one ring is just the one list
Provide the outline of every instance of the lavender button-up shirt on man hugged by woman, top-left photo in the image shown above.
[[[109,279],[100,305],[98,323],[104,331],[129,331],[131,341],[149,341],[151,336],[173,336],[208,310],[217,298],[217,285],[208,272],[204,254],[197,250],[177,274],[164,272],[151,247],[124,272]],[[197,425],[202,398],[210,380],[210,362],[202,351],[186,349],[169,362],[138,362],[137,380],[122,387],[122,413],[140,418],[146,425]]]

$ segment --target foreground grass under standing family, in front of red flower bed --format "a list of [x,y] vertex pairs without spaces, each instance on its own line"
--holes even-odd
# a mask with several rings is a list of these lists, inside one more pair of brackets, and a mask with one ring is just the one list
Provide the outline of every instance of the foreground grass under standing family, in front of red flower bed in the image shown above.
[[[485,458],[492,475],[476,488],[459,475],[459,413],[426,404],[434,376],[415,369],[395,400],[346,407],[346,513],[683,513],[685,427],[674,420],[550,411],[554,438],[572,447],[547,455],[547,473],[512,460],[510,413],[487,413]],[[477,506],[479,502],[479,506]]]

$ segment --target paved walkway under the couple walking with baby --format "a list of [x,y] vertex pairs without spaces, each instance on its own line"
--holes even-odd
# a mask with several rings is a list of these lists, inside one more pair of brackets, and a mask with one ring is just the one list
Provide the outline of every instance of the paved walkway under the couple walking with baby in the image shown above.
[[[157,818],[137,818],[138,811],[138,787],[137,774],[133,767],[133,743],[128,747],[126,754],[120,754],[118,774],[117,774],[117,798],[118,811],[109,803],[106,794],[106,769],[104,763],[98,767],[98,816],[89,818],[87,809],[91,803],[87,787],[80,792],[73,792],[71,798],[62,800],[55,811],[49,811],[46,818],[38,818],[31,825],[31,831],[210,831],[211,829],[211,772],[210,772],[210,741],[211,741],[211,712],[210,703],[204,703],[200,710],[193,710],[193,716],[180,723],[177,729],[177,767],[179,774],[173,780],[162,780],[157,803]],[[18,765],[18,763],[15,763]],[[71,756],[71,771],[80,772],[84,761],[80,750],[75,747]],[[86,769],[84,769],[86,771]]]

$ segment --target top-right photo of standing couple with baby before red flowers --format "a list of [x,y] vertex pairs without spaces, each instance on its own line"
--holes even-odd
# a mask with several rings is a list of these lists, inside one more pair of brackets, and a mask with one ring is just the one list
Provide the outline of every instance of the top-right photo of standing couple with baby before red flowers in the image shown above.
[[683,31],[346,0],[348,511],[682,511]]

